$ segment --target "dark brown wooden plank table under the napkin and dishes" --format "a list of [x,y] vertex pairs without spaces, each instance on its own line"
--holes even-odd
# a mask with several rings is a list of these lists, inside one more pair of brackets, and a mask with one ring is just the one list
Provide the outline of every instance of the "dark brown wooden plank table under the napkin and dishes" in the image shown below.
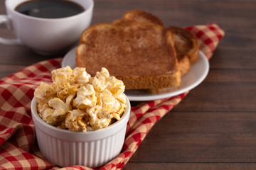
[[[256,169],[256,1],[95,0],[92,24],[134,8],[165,26],[217,23],[225,37],[206,80],[154,125],[124,169]],[[4,26],[0,36],[14,37]],[[63,55],[0,45],[0,78],[55,57]]]

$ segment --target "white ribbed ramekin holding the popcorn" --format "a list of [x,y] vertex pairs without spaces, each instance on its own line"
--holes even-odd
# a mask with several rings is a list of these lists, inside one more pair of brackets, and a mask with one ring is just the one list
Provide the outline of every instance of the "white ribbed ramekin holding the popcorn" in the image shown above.
[[33,98],[31,114],[38,146],[43,156],[53,164],[95,168],[110,162],[121,152],[131,109],[128,98],[120,120],[107,128],[87,132],[72,132],[48,125],[38,116],[37,105]]

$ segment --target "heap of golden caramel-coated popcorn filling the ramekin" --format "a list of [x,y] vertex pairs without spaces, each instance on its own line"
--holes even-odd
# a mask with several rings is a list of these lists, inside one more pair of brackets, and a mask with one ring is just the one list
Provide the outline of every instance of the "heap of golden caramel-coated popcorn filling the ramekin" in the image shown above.
[[127,107],[124,84],[102,68],[95,77],[84,67],[52,72],[53,84],[41,83],[34,96],[38,115],[48,124],[72,131],[99,130],[119,120]]

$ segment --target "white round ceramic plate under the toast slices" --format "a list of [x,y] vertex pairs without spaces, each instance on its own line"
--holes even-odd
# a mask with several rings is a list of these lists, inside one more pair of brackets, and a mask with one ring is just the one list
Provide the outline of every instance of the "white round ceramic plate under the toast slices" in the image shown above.
[[[63,62],[61,63],[62,67],[69,65],[71,68],[75,68],[75,49],[76,47],[64,56]],[[183,94],[184,92],[195,88],[206,78],[208,72],[209,62],[206,55],[199,51],[197,62],[192,64],[190,71],[181,78],[180,86],[175,88],[166,88],[156,94],[151,94],[142,90],[125,90],[124,93],[130,101],[152,101],[161,98],[168,98],[178,94]]]

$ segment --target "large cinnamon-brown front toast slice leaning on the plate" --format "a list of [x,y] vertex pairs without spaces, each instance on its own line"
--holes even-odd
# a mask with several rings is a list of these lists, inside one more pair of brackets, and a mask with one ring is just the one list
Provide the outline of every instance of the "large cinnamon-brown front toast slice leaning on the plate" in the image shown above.
[[[137,12],[132,15],[138,16]],[[76,50],[76,66],[86,67],[92,75],[106,67],[124,82],[126,89],[179,86],[181,73],[171,31],[154,17],[142,22],[129,21],[127,16],[131,14],[124,14],[124,21],[87,28]]]

